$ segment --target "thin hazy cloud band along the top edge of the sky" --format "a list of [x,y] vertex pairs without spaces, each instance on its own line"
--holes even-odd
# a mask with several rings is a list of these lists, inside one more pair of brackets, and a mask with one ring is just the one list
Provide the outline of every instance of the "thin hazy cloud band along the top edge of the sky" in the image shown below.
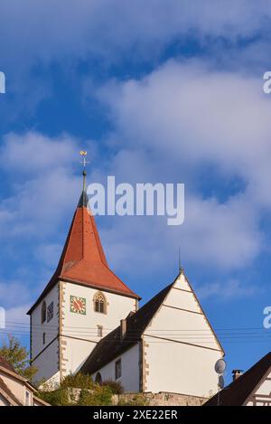
[[89,52],[112,59],[112,53],[127,49],[152,53],[185,35],[201,41],[251,37],[268,27],[268,5],[269,0],[79,0],[76,5],[71,0],[3,0],[0,37],[10,60],[16,57],[22,64],[30,56],[51,61]]

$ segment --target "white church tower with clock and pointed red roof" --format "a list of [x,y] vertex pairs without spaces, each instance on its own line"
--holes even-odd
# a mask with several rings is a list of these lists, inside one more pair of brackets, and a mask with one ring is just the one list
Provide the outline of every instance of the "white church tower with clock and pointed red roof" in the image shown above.
[[29,310],[36,381],[58,383],[77,372],[120,320],[137,310],[138,297],[108,267],[88,209],[86,173],[61,259]]

